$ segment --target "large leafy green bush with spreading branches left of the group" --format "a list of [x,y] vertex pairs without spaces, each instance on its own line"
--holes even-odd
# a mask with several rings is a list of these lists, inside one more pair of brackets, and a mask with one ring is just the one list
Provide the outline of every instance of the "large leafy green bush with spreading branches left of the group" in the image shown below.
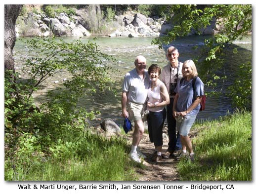
[[[108,77],[111,69],[108,62],[114,59],[100,52],[95,43],[29,39],[27,45],[31,58],[27,59],[23,71],[28,78],[19,79],[12,71],[4,75],[5,168],[8,169],[5,177],[8,180],[21,180],[20,172],[40,167],[43,155],[54,156],[65,151],[59,147],[63,141],[79,142],[85,136],[85,118],[94,118],[93,112],[78,108],[79,98],[96,91],[111,91],[113,84]],[[65,72],[71,78],[49,91],[50,101],[37,107],[32,94],[45,79]],[[65,145],[70,149],[65,155],[78,146]]]

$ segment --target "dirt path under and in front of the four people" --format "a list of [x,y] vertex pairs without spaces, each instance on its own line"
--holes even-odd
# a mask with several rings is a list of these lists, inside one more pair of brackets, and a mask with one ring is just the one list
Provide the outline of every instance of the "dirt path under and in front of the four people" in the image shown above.
[[[164,130],[165,131],[165,130]],[[168,137],[166,133],[163,135],[163,152],[168,148]],[[130,136],[130,141],[131,141]],[[154,145],[150,142],[148,134],[143,134],[139,148],[143,154],[147,156],[143,164],[145,168],[137,168],[136,172],[139,176],[139,181],[175,181],[179,180],[176,170],[177,161],[174,158],[162,159],[159,162],[151,160],[154,153]]]

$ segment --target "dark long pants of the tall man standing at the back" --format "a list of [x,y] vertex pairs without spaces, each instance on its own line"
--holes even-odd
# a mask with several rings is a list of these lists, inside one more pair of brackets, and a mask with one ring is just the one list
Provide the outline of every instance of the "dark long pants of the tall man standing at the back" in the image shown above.
[[170,98],[170,104],[167,105],[167,124],[168,124],[168,135],[169,135],[169,143],[168,150],[181,150],[181,142],[179,133],[176,135],[176,120],[172,116],[172,107],[173,107],[174,98]]

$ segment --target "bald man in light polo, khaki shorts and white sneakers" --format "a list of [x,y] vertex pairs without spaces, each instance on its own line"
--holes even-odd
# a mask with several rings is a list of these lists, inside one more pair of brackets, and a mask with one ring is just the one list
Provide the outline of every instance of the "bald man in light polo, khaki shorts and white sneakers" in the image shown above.
[[124,78],[122,113],[124,117],[134,121],[134,132],[129,156],[133,161],[141,162],[139,156],[145,158],[145,155],[138,150],[138,145],[144,133],[142,118],[146,108],[147,89],[150,86],[150,78],[146,70],[145,57],[137,56],[134,65],[135,68],[128,72]]

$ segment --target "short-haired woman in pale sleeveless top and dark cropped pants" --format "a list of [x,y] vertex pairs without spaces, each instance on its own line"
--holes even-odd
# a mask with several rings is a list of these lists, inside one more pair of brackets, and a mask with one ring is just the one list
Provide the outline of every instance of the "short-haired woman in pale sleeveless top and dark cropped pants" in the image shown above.
[[161,68],[157,64],[152,64],[148,69],[148,74],[151,79],[147,94],[148,133],[150,142],[154,143],[155,146],[152,160],[158,162],[162,159],[163,125],[166,119],[165,106],[170,103],[170,97],[165,84],[159,79]]

